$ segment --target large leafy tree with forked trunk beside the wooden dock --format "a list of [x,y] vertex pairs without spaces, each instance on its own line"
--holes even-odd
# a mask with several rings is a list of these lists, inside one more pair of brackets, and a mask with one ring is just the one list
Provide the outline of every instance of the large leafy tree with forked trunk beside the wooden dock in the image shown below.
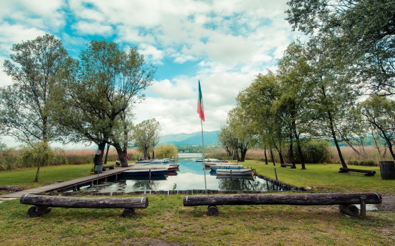
[[53,117],[61,126],[64,142],[94,142],[94,164],[101,165],[105,145],[112,144],[122,166],[125,154],[115,132],[120,115],[130,103],[144,98],[153,83],[155,67],[146,64],[136,48],[128,52],[114,42],[91,41],[79,60],[69,59],[58,85]]

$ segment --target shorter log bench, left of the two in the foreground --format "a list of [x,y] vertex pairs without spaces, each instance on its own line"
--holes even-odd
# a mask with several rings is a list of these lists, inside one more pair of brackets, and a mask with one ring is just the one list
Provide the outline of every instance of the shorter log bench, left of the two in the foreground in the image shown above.
[[127,198],[82,198],[65,196],[44,196],[23,194],[21,204],[34,205],[29,208],[29,217],[37,217],[51,211],[51,208],[86,208],[86,209],[124,209],[122,216],[134,215],[134,209],[146,209],[148,197]]

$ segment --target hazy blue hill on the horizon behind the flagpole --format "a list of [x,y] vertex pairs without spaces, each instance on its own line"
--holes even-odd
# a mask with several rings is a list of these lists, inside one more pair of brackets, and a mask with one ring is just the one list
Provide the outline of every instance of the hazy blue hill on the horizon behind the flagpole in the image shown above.
[[[219,130],[216,131],[203,131],[204,145],[217,144]],[[160,144],[174,144],[176,146],[180,145],[201,145],[201,131],[194,133],[178,133],[164,135],[160,138]]]

